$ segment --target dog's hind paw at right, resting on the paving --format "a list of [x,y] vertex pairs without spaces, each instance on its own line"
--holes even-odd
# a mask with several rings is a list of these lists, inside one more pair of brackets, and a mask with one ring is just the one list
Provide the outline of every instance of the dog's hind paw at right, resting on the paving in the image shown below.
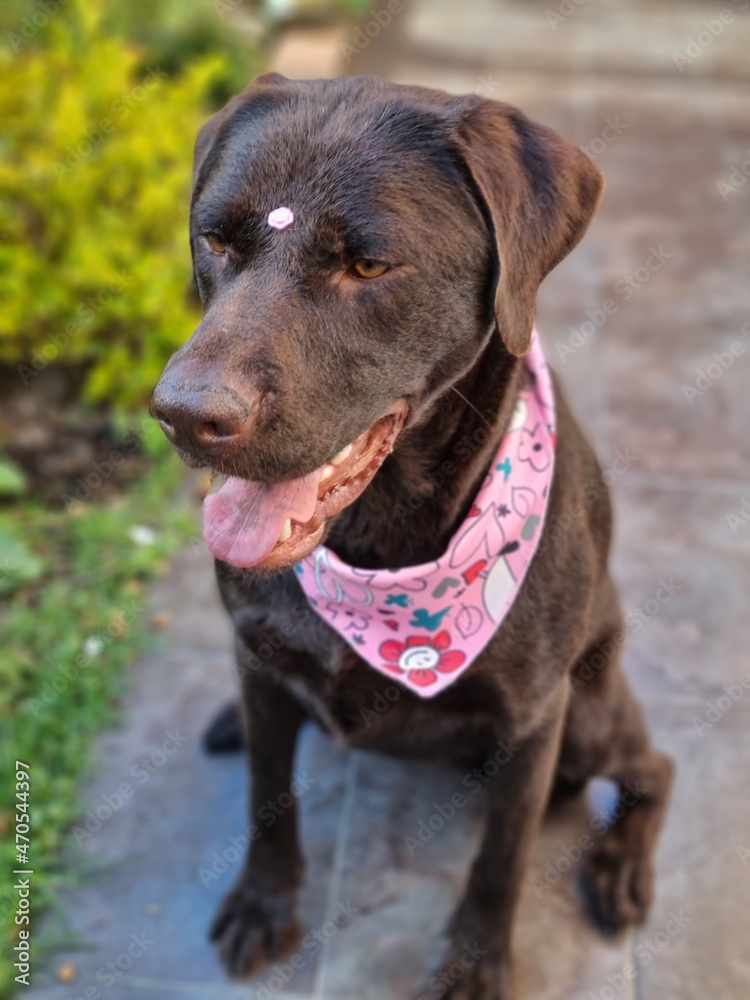
[[653,898],[651,862],[617,837],[605,835],[586,859],[581,889],[591,919],[604,934],[642,924]]

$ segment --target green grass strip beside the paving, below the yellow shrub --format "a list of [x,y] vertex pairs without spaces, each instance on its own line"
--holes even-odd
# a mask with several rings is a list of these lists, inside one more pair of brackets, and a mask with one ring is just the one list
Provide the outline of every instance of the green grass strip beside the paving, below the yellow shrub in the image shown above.
[[[25,867],[13,837],[15,761],[31,772],[28,867],[38,920],[65,878],[67,831],[82,811],[94,737],[117,717],[128,664],[153,639],[146,585],[196,534],[188,502],[174,499],[183,467],[158,429],[141,440],[149,472],[116,501],[97,504],[94,495],[70,510],[32,500],[0,507],[3,945],[15,944],[18,929],[10,873]],[[11,954],[0,948],[0,996],[15,985]]]

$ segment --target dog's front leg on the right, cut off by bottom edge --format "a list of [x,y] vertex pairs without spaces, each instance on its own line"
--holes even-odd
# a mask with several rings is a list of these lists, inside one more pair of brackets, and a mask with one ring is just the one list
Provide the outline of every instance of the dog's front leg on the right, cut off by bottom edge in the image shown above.
[[[495,733],[487,763],[487,829],[464,898],[448,927],[442,970],[429,991],[450,1000],[508,1000],[513,917],[529,850],[547,804],[559,752],[566,692],[561,685],[545,721],[518,742]],[[479,780],[479,778],[477,779]]]

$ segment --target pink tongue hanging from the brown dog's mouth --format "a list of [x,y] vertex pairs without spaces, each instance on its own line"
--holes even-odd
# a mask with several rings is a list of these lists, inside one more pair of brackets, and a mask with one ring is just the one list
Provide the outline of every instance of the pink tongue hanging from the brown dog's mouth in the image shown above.
[[203,537],[217,559],[255,566],[274,547],[284,521],[309,521],[318,497],[320,469],[300,479],[265,486],[234,476],[203,501]]

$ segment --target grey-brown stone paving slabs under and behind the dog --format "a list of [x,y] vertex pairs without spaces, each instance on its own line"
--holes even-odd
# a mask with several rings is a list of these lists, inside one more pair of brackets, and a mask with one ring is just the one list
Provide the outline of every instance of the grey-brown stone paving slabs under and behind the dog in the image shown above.
[[[388,26],[371,27],[377,37],[367,44],[354,29],[336,35],[333,56],[341,38],[350,46],[340,72],[518,104],[587,147],[608,182],[583,245],[542,289],[539,326],[603,466],[627,459],[613,486],[625,661],[654,737],[679,770],[653,914],[614,942],[587,924],[564,860],[590,829],[584,804],[547,819],[516,935],[525,1000],[750,995],[750,693],[740,684],[750,669],[743,5],[412,0]],[[281,66],[290,74],[294,51],[292,40]],[[313,60],[320,72],[336,71],[330,47],[321,53]],[[616,306],[609,316],[606,300]],[[735,342],[742,351],[723,367],[714,352],[726,365]],[[238,870],[246,782],[240,757],[209,758],[200,746],[234,691],[229,626],[207,555],[176,560],[152,601],[173,624],[162,648],[133,666],[122,725],[100,740],[87,801],[92,809],[104,796],[116,803],[123,782],[132,794],[83,841],[94,870],[63,896],[62,926],[80,947],[38,968],[24,995],[412,997],[476,849],[479,802],[411,857],[404,835],[450,797],[460,775],[347,753],[306,729],[297,769],[314,781],[300,797],[302,915],[325,945],[303,948],[287,983],[270,969],[228,982],[206,927]],[[601,805],[607,790],[594,791]],[[353,915],[327,936],[342,906]],[[50,919],[47,934],[60,926]],[[77,967],[72,985],[55,981],[63,961]]]

